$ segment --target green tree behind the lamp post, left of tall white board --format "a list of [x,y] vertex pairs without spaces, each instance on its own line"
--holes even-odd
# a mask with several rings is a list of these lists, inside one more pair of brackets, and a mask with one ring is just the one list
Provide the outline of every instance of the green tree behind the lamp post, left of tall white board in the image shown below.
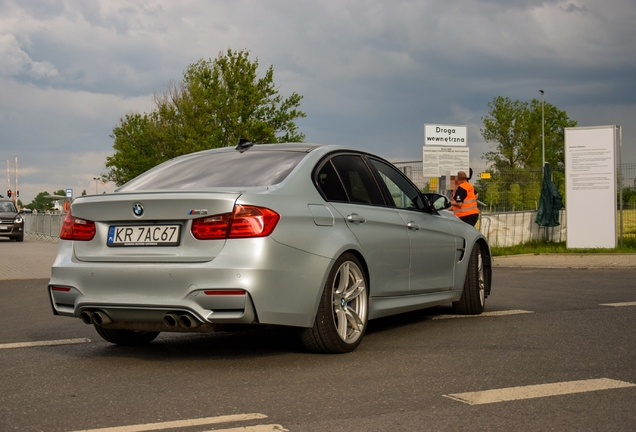
[[[488,103],[488,115],[481,134],[486,142],[495,144],[495,151],[484,154],[497,171],[542,166],[541,101],[529,103],[498,96]],[[565,128],[574,127],[565,111],[550,103],[544,104],[546,162],[553,170],[564,168]]]

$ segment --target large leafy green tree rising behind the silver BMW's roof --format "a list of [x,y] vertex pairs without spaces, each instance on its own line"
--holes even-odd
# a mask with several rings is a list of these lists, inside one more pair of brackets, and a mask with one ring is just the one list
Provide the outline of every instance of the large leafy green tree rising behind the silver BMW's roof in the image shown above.
[[257,76],[258,59],[247,50],[219,53],[188,66],[183,80],[153,98],[150,113],[129,113],[113,129],[113,156],[106,178],[118,186],[168,159],[210,148],[258,143],[302,142],[294,120],[306,117],[302,96],[283,98],[270,66]]

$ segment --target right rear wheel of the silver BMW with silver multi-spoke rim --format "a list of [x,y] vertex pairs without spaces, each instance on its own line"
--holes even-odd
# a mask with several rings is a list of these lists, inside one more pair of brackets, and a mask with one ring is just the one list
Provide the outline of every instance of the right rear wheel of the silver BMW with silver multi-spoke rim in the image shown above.
[[305,347],[317,353],[347,353],[367,329],[369,291],[360,261],[350,253],[335,262],[325,284],[314,326],[302,329]]

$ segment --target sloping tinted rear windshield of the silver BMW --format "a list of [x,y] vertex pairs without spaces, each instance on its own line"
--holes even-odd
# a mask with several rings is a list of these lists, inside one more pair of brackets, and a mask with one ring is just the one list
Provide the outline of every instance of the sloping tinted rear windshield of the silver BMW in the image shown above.
[[118,192],[271,186],[307,155],[299,151],[206,151],[165,162],[134,178]]

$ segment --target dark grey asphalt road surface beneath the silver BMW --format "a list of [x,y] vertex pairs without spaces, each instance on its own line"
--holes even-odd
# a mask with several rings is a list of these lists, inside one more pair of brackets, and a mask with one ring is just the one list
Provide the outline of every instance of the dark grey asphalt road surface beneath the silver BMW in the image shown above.
[[485,314],[378,319],[314,355],[288,328],[111,345],[52,315],[56,250],[0,241],[0,430],[636,430],[634,256],[497,258]]

